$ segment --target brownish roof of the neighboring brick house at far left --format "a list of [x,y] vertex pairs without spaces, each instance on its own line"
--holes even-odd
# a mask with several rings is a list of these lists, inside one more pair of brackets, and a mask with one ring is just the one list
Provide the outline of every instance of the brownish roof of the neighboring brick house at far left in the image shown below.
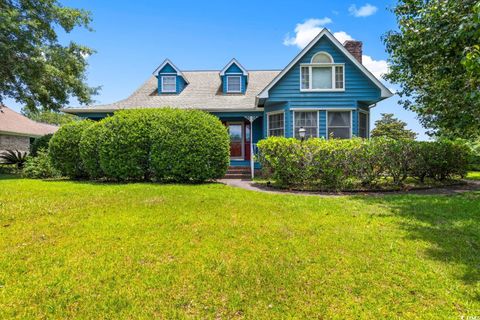
[[12,109],[0,105],[0,134],[41,137],[57,130],[57,126],[30,120]]

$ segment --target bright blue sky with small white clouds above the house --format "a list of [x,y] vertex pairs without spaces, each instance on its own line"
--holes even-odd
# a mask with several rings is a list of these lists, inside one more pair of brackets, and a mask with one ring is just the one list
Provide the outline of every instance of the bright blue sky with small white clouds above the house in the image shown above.
[[[219,70],[233,57],[247,69],[282,69],[321,27],[340,40],[363,41],[364,64],[378,75],[387,58],[381,36],[396,28],[389,10],[394,2],[65,0],[66,6],[92,12],[94,31],[77,30],[61,40],[97,51],[88,58],[88,83],[102,86],[98,103],[127,97],[165,58],[184,70]],[[372,125],[380,113],[394,113],[426,139],[415,114],[397,101],[392,97],[379,103]]]

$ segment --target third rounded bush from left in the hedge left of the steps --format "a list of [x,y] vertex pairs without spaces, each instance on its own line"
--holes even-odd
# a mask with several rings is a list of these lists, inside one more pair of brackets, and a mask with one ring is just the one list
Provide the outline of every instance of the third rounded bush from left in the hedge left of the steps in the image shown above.
[[152,123],[161,121],[170,109],[135,109],[116,112],[101,121],[100,166],[105,176],[116,180],[148,180]]

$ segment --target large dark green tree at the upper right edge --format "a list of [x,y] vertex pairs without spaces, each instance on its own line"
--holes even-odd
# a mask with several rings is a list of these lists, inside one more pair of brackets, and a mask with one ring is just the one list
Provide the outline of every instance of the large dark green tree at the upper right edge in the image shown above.
[[386,79],[432,135],[480,135],[478,0],[399,0],[398,31],[384,36]]

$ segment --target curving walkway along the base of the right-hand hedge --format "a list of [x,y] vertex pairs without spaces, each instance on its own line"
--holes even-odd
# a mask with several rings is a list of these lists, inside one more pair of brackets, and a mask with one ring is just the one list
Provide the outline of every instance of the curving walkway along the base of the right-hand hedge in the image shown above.
[[367,195],[367,196],[382,196],[382,195],[398,195],[398,194],[420,194],[420,195],[454,195],[470,191],[480,190],[480,181],[463,180],[465,184],[458,184],[446,186],[441,188],[416,189],[410,191],[359,191],[359,192],[310,192],[310,191],[294,191],[294,190],[280,190],[260,184],[248,179],[220,179],[218,182],[227,186],[241,188],[250,191],[274,193],[274,194],[293,194],[302,196],[351,196],[351,195]]

